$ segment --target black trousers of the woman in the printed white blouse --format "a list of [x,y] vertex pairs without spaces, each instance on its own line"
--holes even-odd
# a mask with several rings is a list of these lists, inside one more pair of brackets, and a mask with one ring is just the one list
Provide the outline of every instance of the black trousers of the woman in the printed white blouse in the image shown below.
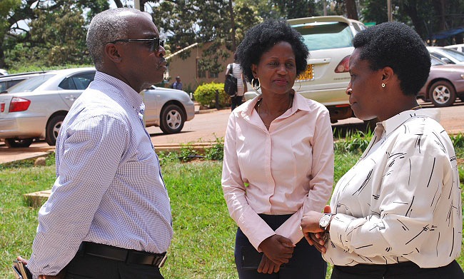
[[393,265],[353,265],[333,266],[331,279],[463,279],[464,273],[458,263],[453,260],[449,265],[440,268],[420,268],[413,262]]

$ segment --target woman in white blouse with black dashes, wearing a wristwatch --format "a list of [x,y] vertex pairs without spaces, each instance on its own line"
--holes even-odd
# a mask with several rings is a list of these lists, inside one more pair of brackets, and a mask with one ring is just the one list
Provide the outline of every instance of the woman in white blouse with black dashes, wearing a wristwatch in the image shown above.
[[405,24],[355,36],[346,93],[355,116],[378,118],[355,166],[338,181],[323,214],[303,215],[310,244],[334,265],[332,278],[464,278],[462,208],[453,144],[438,108],[416,95],[430,55]]

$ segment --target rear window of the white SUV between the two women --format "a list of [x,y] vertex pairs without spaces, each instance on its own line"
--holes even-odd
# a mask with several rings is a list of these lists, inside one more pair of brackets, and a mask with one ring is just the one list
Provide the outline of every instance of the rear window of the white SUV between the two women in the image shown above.
[[344,22],[312,22],[293,25],[293,29],[303,35],[310,51],[318,49],[341,49],[353,46],[350,26]]

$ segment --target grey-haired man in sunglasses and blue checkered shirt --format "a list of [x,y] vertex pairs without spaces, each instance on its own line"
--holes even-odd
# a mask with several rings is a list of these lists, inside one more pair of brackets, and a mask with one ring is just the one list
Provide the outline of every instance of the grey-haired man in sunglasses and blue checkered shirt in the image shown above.
[[95,79],[56,141],[56,181],[28,260],[36,278],[163,278],[171,207],[139,94],[166,71],[151,17],[109,9],[92,19]]

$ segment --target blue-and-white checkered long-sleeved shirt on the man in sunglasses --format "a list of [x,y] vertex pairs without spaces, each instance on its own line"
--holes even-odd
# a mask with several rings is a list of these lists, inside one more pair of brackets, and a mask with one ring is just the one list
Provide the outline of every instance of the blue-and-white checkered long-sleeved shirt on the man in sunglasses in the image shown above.
[[29,270],[55,275],[82,241],[163,253],[173,235],[141,96],[96,72],[56,141],[56,181],[39,210]]

